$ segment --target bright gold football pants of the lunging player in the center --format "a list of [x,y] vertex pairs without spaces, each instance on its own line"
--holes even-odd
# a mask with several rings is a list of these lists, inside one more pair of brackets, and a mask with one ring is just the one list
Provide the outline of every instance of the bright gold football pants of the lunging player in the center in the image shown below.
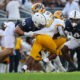
[[42,60],[40,55],[40,51],[44,48],[50,53],[59,53],[58,47],[61,46],[62,39],[52,39],[48,35],[38,35],[36,36],[36,41],[34,42],[31,50],[30,56],[32,56],[35,60]]

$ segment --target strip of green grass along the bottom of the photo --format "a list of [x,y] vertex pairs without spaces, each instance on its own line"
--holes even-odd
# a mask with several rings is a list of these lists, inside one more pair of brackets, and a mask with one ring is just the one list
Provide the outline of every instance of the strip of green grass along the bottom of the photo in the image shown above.
[[80,80],[80,72],[65,73],[6,73],[0,80]]

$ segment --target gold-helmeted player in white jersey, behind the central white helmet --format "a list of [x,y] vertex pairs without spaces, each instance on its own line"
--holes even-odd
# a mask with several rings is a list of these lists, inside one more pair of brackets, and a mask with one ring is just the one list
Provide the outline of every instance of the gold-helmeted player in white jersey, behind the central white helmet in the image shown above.
[[53,22],[53,14],[50,11],[46,11],[45,6],[42,3],[35,3],[32,6],[33,15],[36,12],[42,13],[46,18],[46,26],[49,27]]

